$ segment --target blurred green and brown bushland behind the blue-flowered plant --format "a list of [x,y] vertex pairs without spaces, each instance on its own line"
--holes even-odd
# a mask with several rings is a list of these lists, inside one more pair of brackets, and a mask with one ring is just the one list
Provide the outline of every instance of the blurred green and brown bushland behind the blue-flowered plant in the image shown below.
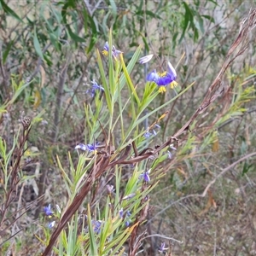
[[[75,166],[81,160],[75,146],[108,141],[96,121],[104,117],[103,126],[108,123],[105,97],[91,97],[88,90],[94,79],[102,84],[96,49],[102,51],[111,40],[109,35],[116,49],[123,52],[125,64],[139,53],[140,44],[140,56],[158,56],[147,65],[134,64],[129,74],[139,98],[144,95],[146,74],[165,67],[161,61],[171,61],[176,68],[179,87],[155,96],[143,111],[152,114],[139,124],[143,131],[166,113],[159,121],[157,135],[147,145],[137,142],[139,150],[154,148],[172,137],[201,105],[254,8],[253,1],[239,0],[0,0],[1,255],[44,252],[52,230],[47,228],[49,220],[43,207],[57,204],[64,211],[77,195],[78,188],[73,191],[72,182],[67,182],[67,177],[72,180],[74,175],[71,162]],[[156,174],[150,173],[154,187],[147,192],[147,218],[137,233],[130,232],[139,240],[137,255],[163,253],[162,242],[168,248],[165,252],[172,255],[256,255],[256,169],[252,157],[256,145],[255,43],[254,29],[247,34],[247,49],[230,63],[221,80],[224,92],[191,123],[189,131],[177,137],[178,147],[172,145],[177,150],[169,148],[172,158],[160,162]],[[108,70],[108,58],[102,60]],[[113,106],[113,119],[119,117],[117,106],[134,100],[127,88],[119,94],[121,102]],[[101,113],[90,126],[88,119],[100,108],[99,102]],[[132,106],[124,108],[123,125],[113,129],[115,147],[123,142],[122,132],[129,129]],[[160,110],[153,113],[157,108]],[[28,130],[25,117],[32,119]],[[149,169],[148,161],[136,168]],[[122,168],[119,194],[127,195],[125,185],[133,169],[116,168]],[[101,183],[103,177],[98,178],[102,189],[106,186]],[[106,180],[117,186],[113,176]],[[107,201],[96,191],[94,203],[103,202],[92,211],[92,218],[99,214],[96,211],[105,209],[101,204]],[[86,203],[77,214],[89,214]],[[136,222],[136,214],[133,217]],[[122,241],[124,250],[119,255],[136,255],[132,254],[131,240],[127,236]],[[100,254],[91,248],[91,240],[90,249],[84,245],[86,239],[84,254],[81,249],[68,253],[67,237],[66,241],[63,255]],[[110,255],[112,249],[105,254]],[[61,248],[55,247],[55,253],[61,255],[56,250]]]

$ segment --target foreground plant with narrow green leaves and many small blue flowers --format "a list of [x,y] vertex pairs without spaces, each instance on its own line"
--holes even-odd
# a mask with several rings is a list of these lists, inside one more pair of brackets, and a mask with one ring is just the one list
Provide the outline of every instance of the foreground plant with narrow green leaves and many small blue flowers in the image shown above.
[[[165,116],[161,110],[192,86],[149,111],[151,102],[177,85],[177,74],[166,61],[166,69],[148,73],[145,86],[138,89],[131,73],[139,67],[141,49],[127,65],[111,35],[103,49],[96,49],[100,78],[87,91],[93,101],[84,105],[84,142],[74,148],[75,154],[68,153],[69,166],[57,158],[68,201],[65,206],[60,202],[60,206],[44,207],[44,214],[52,218],[48,227],[42,227],[44,238],[37,236],[45,245],[43,255],[52,251],[68,256],[135,255],[139,251],[150,193],[163,177],[158,166],[170,157],[169,146],[177,143],[169,137],[156,147],[154,139]],[[139,65],[152,57],[145,56]],[[150,117],[155,121],[145,127]]]

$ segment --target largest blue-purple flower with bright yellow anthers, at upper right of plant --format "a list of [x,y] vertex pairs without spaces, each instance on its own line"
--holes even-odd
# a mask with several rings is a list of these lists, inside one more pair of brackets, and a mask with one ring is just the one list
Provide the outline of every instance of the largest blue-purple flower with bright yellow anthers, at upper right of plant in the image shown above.
[[157,73],[155,70],[151,73],[148,73],[147,81],[148,82],[154,82],[158,86],[160,86],[159,92],[165,92],[166,91],[166,85],[170,84],[171,88],[177,86],[177,82],[175,81],[177,79],[177,73],[172,67],[172,64],[168,62],[167,64],[167,71],[164,73]]

